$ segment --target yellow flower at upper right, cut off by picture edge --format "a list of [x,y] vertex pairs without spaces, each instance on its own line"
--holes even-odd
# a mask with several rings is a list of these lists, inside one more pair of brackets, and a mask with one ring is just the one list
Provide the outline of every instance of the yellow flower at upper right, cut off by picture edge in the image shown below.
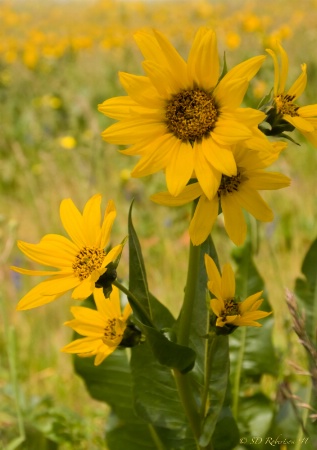
[[286,91],[288,56],[285,50],[277,42],[277,51],[281,57],[280,66],[276,52],[271,49],[266,51],[272,56],[274,63],[274,103],[278,114],[317,146],[317,104],[300,107],[294,103],[306,88],[306,64],[302,64],[301,75]]

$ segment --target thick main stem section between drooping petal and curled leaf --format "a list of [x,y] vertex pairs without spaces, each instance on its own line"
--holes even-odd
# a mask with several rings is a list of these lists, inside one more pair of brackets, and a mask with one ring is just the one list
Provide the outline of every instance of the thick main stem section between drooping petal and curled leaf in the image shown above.
[[177,342],[180,345],[188,345],[189,343],[190,326],[194,307],[194,298],[196,294],[196,286],[199,274],[199,258],[200,258],[200,245],[194,246],[192,243],[190,243],[184,303],[182,306],[178,326]]

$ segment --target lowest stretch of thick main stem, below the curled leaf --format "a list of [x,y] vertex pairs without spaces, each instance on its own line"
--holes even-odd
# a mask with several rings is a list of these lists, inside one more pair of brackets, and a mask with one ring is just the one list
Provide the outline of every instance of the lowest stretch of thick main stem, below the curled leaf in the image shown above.
[[200,436],[200,417],[197,411],[197,405],[192,395],[192,387],[190,385],[189,376],[180,373],[177,369],[173,369],[173,374],[179,394],[179,398],[182,402],[183,409],[193,430],[197,448],[198,438]]

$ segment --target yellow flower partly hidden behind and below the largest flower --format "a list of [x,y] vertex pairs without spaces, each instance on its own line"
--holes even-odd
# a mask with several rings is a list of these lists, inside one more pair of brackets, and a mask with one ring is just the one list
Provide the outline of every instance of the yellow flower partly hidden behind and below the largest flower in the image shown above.
[[194,245],[204,242],[210,234],[221,207],[225,229],[230,239],[236,245],[241,245],[247,233],[243,209],[262,222],[273,220],[273,212],[258,190],[281,189],[290,184],[290,179],[285,175],[263,170],[277,159],[280,150],[284,148],[283,143],[271,145],[274,152],[268,157],[263,156],[261,152],[250,150],[249,147],[252,146],[250,143],[237,144],[233,147],[232,154],[237,165],[237,174],[233,176],[223,174],[212,199],[207,198],[199,183],[193,183],[186,186],[178,197],[162,192],[152,195],[151,200],[161,205],[179,206],[199,198],[189,227]]

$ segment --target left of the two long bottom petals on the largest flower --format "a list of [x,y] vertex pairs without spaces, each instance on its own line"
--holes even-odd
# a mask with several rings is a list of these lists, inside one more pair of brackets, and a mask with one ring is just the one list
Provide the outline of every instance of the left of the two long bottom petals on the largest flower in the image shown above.
[[179,141],[170,155],[170,162],[166,167],[166,184],[171,195],[179,195],[194,170],[194,149],[189,143]]

